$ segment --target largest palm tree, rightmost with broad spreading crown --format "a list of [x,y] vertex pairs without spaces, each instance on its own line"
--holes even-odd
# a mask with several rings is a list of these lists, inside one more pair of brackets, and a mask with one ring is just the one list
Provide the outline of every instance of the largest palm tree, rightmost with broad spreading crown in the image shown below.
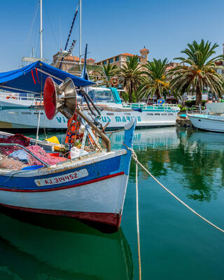
[[[169,71],[169,76],[172,76],[170,86],[175,92],[196,91],[196,105],[202,104],[202,91],[204,87],[209,87],[211,92],[221,96],[223,94],[223,77],[216,73],[216,63],[218,60],[223,60],[223,55],[218,55],[211,58],[216,53],[217,43],[211,46],[211,42],[204,40],[201,43],[193,41],[188,43],[188,48],[182,50],[181,53],[187,57],[176,57],[181,60],[181,65],[174,67]],[[185,64],[188,64],[185,65]]]

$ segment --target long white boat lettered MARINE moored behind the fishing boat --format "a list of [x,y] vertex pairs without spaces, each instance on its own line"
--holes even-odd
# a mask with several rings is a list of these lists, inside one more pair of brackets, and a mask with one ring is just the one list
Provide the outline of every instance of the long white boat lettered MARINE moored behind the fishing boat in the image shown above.
[[[137,127],[167,127],[176,125],[179,107],[165,104],[147,106],[144,103],[123,103],[116,88],[90,87],[90,97],[102,109],[100,123],[106,130],[123,128],[132,118],[137,118]],[[34,129],[41,110],[40,129],[66,130],[67,119],[58,113],[48,120],[43,111],[43,102],[36,97],[21,97],[19,94],[0,94],[0,128]],[[87,113],[87,111],[86,111]],[[87,113],[88,114],[88,113]]]

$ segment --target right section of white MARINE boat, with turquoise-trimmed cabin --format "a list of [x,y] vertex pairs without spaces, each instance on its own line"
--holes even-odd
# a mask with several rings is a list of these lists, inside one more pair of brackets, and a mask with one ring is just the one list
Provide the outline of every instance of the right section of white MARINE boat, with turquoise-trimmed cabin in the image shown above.
[[88,94],[102,109],[101,120],[106,129],[119,129],[137,118],[137,127],[167,127],[176,125],[180,109],[174,104],[123,103],[114,87],[89,87]]

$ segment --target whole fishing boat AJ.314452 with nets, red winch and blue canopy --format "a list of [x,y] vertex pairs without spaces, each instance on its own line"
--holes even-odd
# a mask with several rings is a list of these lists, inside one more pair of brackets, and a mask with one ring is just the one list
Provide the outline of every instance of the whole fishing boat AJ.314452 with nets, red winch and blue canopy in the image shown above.
[[[41,82],[34,83],[34,78]],[[0,134],[0,204],[22,211],[69,216],[118,230],[136,120],[125,125],[123,147],[111,151],[111,142],[97,121],[100,116],[88,118],[79,105],[83,97],[88,98],[83,87],[92,82],[40,61],[0,73],[2,90],[41,93],[43,85],[48,119],[60,112],[71,120],[66,132],[71,151],[57,149],[61,154],[49,154],[38,141],[33,145],[34,141],[22,135]]]

